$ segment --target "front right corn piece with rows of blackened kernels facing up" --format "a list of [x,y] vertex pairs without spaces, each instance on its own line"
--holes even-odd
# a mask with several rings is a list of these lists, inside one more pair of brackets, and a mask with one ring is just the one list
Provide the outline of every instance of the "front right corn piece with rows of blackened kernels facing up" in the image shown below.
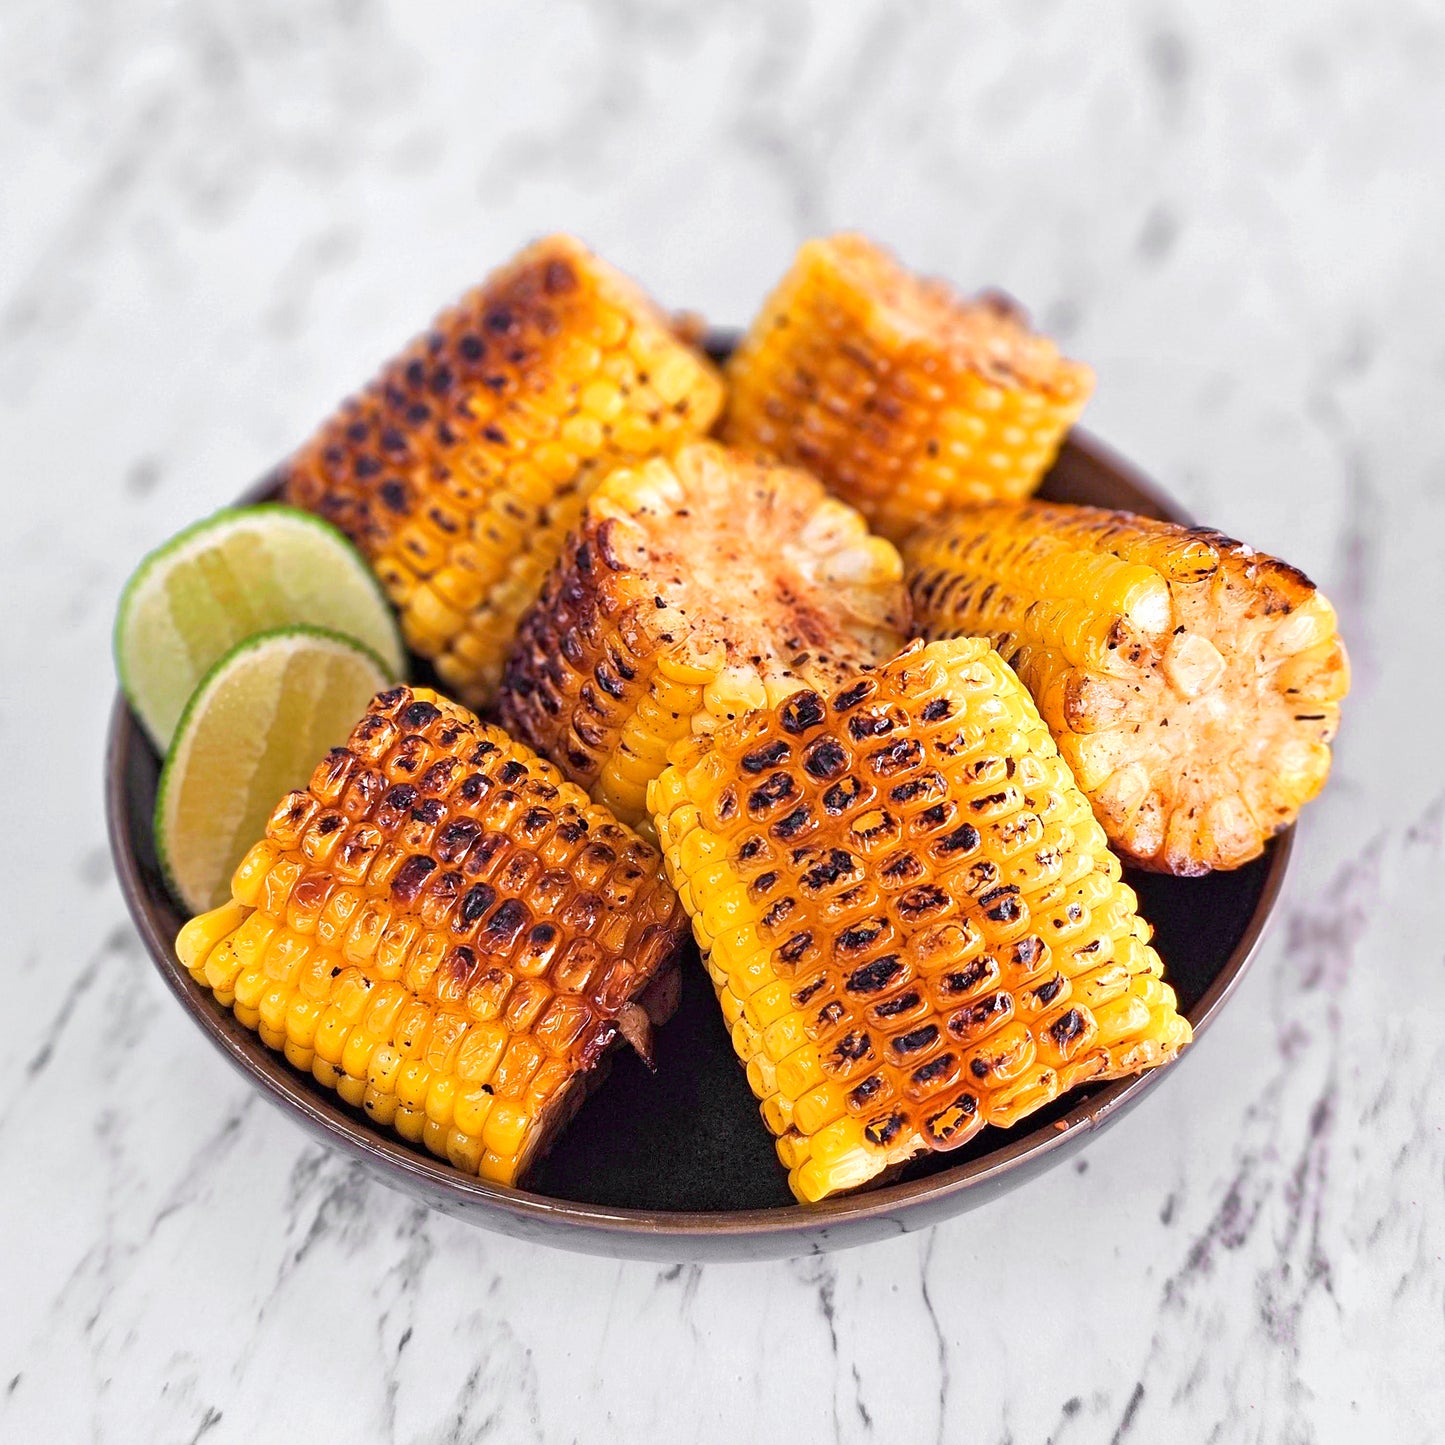
[[652,808],[805,1202],[1189,1039],[1087,799],[981,639],[683,740]]

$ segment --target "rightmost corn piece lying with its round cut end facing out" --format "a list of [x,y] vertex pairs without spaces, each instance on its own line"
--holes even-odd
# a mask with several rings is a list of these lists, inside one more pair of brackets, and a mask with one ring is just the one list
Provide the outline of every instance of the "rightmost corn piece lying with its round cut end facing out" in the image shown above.
[[1314,584],[1218,532],[1042,501],[906,543],[926,637],[990,637],[1110,842],[1163,873],[1257,857],[1325,783],[1350,686]]

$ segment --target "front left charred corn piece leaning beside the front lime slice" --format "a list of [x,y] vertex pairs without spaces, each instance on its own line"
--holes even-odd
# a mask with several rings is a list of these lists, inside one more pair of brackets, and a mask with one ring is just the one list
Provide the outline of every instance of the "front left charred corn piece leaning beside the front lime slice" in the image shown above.
[[500,728],[377,696],[176,952],[273,1049],[458,1169],[516,1183],[621,1033],[646,1055],[686,920],[655,848]]

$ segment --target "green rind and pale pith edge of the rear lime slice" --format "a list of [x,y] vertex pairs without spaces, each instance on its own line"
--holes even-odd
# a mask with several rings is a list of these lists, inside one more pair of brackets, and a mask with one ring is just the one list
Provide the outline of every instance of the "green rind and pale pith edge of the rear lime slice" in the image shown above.
[[[111,649],[116,659],[116,673],[120,679],[120,688],[126,695],[126,701],[130,704],[131,711],[140,720],[142,727],[150,736],[152,741],[156,743],[160,751],[166,750],[171,737],[173,737],[175,730],[179,727],[179,717],[168,733],[163,727],[163,720],[158,720],[156,717],[156,708],[147,705],[147,699],[143,695],[144,689],[134,676],[137,669],[127,662],[127,639],[134,623],[137,601],[147,594],[147,590],[152,585],[158,584],[159,572],[163,571],[166,575],[172,575],[178,565],[185,562],[188,552],[195,556],[201,556],[212,548],[223,551],[227,533],[244,529],[256,529],[257,535],[264,538],[269,522],[276,522],[288,527],[305,527],[309,538],[322,540],[325,546],[331,546],[337,553],[338,568],[342,575],[361,581],[364,584],[366,594],[368,595],[368,601],[374,604],[374,616],[360,618],[367,624],[363,629],[368,633],[367,637],[354,637],[351,633],[344,633],[341,629],[327,627],[324,623],[314,623],[306,617],[298,617],[290,626],[319,626],[322,631],[338,631],[342,636],[353,636],[353,640],[363,643],[363,646],[373,653],[380,653],[381,660],[386,663],[393,676],[400,676],[405,670],[406,650],[402,643],[400,629],[396,623],[396,614],[392,610],[390,601],[387,600],[381,584],[371,571],[370,564],[344,532],[332,526],[332,523],[327,522],[324,517],[318,517],[311,512],[303,512],[299,507],[289,507],[279,501],[263,501],[256,506],[246,507],[223,507],[220,512],[214,512],[210,516],[202,517],[199,522],[194,522],[191,526],[184,527],[175,536],[169,538],[160,546],[149,552],[127,579],[124,588],[121,590],[120,603],[116,610],[116,627],[111,637]],[[374,631],[371,624],[374,624]],[[256,633],[251,633],[250,636],[272,630],[276,630],[276,627],[272,626],[257,629]],[[285,630],[285,624],[282,624],[282,630]],[[237,642],[241,640],[244,639],[237,639]],[[197,679],[197,688],[199,688],[204,676],[205,670],[202,670],[201,678]],[[184,712],[184,708],[181,711]]]

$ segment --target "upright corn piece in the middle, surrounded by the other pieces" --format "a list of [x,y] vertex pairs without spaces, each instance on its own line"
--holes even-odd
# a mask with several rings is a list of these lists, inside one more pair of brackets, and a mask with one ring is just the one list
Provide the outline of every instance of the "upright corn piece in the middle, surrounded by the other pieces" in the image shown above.
[[894,548],[714,442],[614,471],[526,614],[504,725],[644,832],[668,747],[903,644]]

